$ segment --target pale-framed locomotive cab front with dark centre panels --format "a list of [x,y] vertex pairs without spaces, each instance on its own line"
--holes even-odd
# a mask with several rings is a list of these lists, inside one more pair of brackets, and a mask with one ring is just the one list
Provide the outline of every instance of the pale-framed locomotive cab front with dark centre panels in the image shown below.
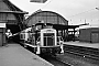
[[41,30],[41,45],[42,46],[55,46],[56,44],[56,30],[44,29]]

